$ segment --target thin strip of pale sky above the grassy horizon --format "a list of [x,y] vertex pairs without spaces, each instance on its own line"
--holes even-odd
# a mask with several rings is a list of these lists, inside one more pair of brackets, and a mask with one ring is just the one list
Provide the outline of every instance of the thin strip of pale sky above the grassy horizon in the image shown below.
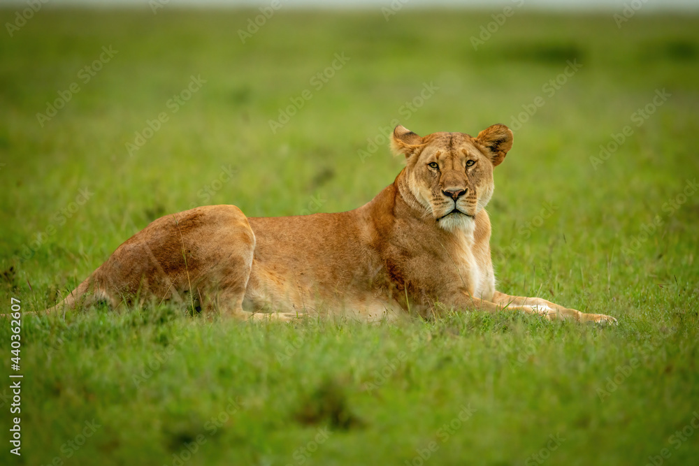
[[[612,12],[633,8],[638,13],[644,13],[644,10],[699,13],[699,2],[696,0],[44,0],[42,3],[53,8],[73,6],[132,8],[147,7],[150,6],[150,3],[195,8],[257,8],[268,6],[273,1],[278,1],[280,6],[289,8],[390,8],[392,4],[398,3],[403,8],[494,9],[514,4],[531,10]],[[26,5],[27,0],[0,0],[1,7],[17,8]]]

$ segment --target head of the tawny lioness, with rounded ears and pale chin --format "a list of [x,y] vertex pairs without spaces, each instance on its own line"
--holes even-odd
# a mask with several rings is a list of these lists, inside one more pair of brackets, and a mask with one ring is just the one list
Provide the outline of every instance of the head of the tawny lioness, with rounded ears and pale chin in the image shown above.
[[448,231],[471,229],[493,195],[493,167],[512,148],[512,131],[493,124],[475,138],[464,133],[420,137],[398,125],[391,147],[405,155],[408,187],[437,224]]

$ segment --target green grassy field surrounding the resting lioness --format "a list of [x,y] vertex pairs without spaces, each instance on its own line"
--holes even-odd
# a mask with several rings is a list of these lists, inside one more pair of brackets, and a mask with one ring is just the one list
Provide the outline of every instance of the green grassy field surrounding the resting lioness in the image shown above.
[[[395,13],[282,8],[241,38],[259,11],[45,7],[3,31],[2,312],[53,305],[193,205],[358,207],[401,170],[396,122],[502,122],[515,138],[489,205],[498,288],[619,326],[252,324],[166,305],[25,316],[19,372],[0,326],[0,463],[696,461],[699,18]],[[10,373],[24,375],[21,457]]]

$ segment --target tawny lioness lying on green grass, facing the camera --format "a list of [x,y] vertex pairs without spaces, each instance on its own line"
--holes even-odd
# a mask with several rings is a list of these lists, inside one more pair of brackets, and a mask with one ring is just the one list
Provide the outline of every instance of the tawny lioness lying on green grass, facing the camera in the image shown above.
[[493,167],[512,147],[503,124],[476,138],[396,126],[406,166],[355,210],[247,218],[212,205],[153,221],[52,310],[106,300],[177,300],[247,319],[350,314],[366,321],[445,309],[516,310],[615,322],[495,289],[490,256]]

